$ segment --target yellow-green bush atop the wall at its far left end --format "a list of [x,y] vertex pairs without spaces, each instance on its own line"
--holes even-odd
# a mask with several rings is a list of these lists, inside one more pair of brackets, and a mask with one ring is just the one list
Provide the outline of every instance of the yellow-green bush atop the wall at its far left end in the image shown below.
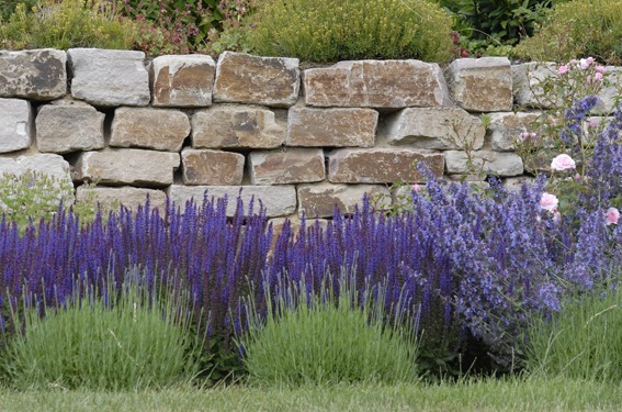
[[0,45],[5,48],[67,49],[70,47],[132,48],[136,25],[120,18],[101,0],[42,0],[32,10],[16,4],[0,25]]

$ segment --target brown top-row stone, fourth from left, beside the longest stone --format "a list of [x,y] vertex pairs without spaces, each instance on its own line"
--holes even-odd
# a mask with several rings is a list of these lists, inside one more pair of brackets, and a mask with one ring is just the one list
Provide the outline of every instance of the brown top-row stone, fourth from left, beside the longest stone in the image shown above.
[[214,101],[289,108],[299,85],[297,58],[225,52],[216,65]]

